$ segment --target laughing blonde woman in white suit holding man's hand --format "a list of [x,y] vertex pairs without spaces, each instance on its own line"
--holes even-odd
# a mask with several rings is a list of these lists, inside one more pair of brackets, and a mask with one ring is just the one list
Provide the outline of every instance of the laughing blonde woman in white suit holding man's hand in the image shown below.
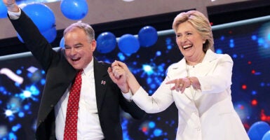
[[175,102],[177,140],[249,139],[231,102],[233,61],[229,55],[212,52],[208,19],[196,10],[180,13],[173,29],[184,57],[168,67],[165,80],[154,94],[149,96],[122,62],[112,64],[108,70],[111,78],[117,83],[119,76],[126,76],[133,92],[130,99],[147,113],[164,111]]

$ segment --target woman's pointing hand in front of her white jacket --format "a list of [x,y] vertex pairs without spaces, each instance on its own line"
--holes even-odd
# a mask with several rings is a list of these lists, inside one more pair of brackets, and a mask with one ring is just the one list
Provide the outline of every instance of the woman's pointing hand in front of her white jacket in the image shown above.
[[189,77],[170,80],[166,84],[171,84],[171,83],[174,83],[175,86],[171,87],[170,90],[176,90],[177,92],[181,91],[181,93],[184,92],[186,87],[190,87],[192,85],[191,78]]

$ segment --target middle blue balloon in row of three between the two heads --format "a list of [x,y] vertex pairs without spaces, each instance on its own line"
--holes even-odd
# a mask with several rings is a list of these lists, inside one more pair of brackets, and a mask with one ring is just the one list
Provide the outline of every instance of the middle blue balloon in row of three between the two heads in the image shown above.
[[124,34],[119,38],[118,46],[121,52],[132,54],[139,50],[140,42],[137,38],[135,38],[135,36],[131,34]]

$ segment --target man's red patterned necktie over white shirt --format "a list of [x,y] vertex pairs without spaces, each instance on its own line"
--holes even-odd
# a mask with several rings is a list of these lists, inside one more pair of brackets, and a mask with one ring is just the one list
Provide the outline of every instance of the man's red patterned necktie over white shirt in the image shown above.
[[69,99],[67,102],[67,114],[65,122],[64,139],[77,139],[77,121],[79,110],[79,99],[81,92],[81,71],[80,70],[75,78],[72,88],[69,92]]

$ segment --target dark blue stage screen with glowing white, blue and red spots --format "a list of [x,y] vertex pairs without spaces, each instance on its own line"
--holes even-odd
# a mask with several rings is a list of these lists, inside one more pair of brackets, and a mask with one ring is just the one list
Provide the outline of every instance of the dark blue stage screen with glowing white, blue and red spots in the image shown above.
[[[270,17],[212,27],[215,52],[234,59],[231,96],[234,107],[248,131],[250,125],[270,123]],[[120,36],[119,36],[120,37]],[[116,46],[97,59],[126,62],[140,84],[153,94],[166,76],[170,64],[182,55],[172,30],[158,31],[158,41],[127,55]],[[34,139],[36,114],[45,73],[29,52],[0,57],[0,139]],[[121,115],[124,139],[175,139],[177,109],[149,114],[144,120]]]

